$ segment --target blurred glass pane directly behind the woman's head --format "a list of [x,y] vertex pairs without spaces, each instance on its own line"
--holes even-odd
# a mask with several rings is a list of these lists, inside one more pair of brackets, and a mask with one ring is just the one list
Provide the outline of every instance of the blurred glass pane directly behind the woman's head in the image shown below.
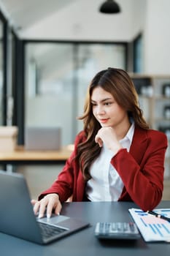
[[[77,116],[81,116],[88,84],[96,72],[108,67],[126,69],[125,45],[79,45],[77,56],[77,108],[75,112]],[[80,129],[82,129],[82,121],[78,121],[77,124],[76,130]]]

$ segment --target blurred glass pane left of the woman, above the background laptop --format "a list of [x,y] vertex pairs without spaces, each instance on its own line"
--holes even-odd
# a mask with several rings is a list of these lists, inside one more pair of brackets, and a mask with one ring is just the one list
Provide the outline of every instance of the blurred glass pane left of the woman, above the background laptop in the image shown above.
[[72,141],[73,46],[26,47],[25,127],[61,127],[62,144]]

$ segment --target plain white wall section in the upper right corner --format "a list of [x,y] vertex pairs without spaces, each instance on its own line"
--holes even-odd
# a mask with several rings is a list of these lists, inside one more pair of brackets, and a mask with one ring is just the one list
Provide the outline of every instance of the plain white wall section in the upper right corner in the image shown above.
[[170,73],[170,1],[147,0],[144,30],[144,71]]

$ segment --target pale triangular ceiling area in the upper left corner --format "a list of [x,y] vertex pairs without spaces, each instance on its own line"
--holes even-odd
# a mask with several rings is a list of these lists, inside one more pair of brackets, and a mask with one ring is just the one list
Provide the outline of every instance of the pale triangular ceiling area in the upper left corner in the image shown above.
[[0,0],[0,7],[15,29],[26,29],[77,0]]

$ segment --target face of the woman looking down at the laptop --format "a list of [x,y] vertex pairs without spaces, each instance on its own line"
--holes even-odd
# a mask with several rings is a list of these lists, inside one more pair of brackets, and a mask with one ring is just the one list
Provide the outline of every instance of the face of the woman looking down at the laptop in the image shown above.
[[113,129],[127,124],[127,112],[117,104],[112,94],[100,86],[93,89],[91,95],[93,115],[101,124],[101,127],[112,127]]

